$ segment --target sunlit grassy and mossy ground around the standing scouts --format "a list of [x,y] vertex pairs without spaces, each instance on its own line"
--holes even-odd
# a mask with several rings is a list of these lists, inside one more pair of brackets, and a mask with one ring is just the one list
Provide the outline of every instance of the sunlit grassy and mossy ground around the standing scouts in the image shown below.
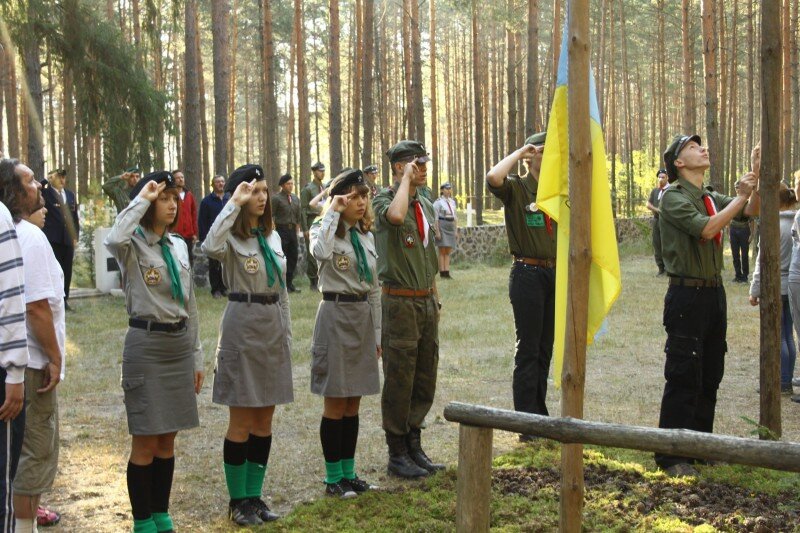
[[[656,278],[644,246],[622,255],[623,292],[608,318],[608,334],[587,357],[585,418],[656,426],[663,390],[666,280]],[[725,379],[715,430],[752,436],[758,420],[758,308],[747,286],[724,272],[728,293]],[[309,392],[310,339],[319,295],[300,285],[291,295],[295,401],[276,410],[265,494],[284,518],[263,530],[348,531],[454,529],[458,426],[442,417],[450,401],[511,408],[514,326],[508,267],[461,266],[440,281],[444,310],[434,406],[423,432],[429,455],[450,469],[427,481],[386,474],[380,398],[364,398],[357,453],[359,475],[382,487],[355,501],[323,497],[319,445],[320,398]],[[198,295],[206,385],[198,400],[201,426],[179,434],[171,512],[179,531],[235,531],[226,520],[222,441],[227,412],[211,402],[217,328],[225,302]],[[119,387],[127,316],[121,299],[77,300],[67,315],[67,379],[59,385],[61,458],[47,505],[63,514],[54,531],[122,531],[131,519],[125,485],[130,438]],[[631,386],[635,384],[635,386]],[[800,392],[800,391],[798,391]],[[550,387],[558,416],[560,392]],[[800,404],[782,397],[783,439],[800,442]],[[494,433],[492,527],[551,531],[558,523],[558,448]],[[588,447],[585,528],[589,531],[798,531],[800,476],[740,466],[701,468],[693,480],[671,480],[652,456]]]

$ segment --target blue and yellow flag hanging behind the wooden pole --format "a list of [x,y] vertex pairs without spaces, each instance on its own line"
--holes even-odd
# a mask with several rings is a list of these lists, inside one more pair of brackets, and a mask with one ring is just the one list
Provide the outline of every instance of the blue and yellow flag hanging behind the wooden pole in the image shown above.
[[[568,8],[569,9],[569,8]],[[569,115],[567,113],[568,28],[564,24],[561,56],[558,61],[558,83],[553,109],[547,125],[547,140],[539,176],[536,205],[558,222],[556,261],[555,342],[553,346],[553,379],[561,386],[564,364],[564,337],[567,319],[567,279],[569,263]],[[592,139],[592,265],[589,274],[589,319],[587,341],[591,344],[622,288],[619,252],[611,210],[603,130],[594,75],[589,72],[589,112]],[[575,184],[582,186],[580,183]]]

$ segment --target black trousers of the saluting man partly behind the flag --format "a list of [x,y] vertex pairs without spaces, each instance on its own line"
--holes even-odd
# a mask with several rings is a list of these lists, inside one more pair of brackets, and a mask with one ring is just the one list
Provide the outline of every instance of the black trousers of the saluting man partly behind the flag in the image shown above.
[[547,375],[553,358],[555,324],[554,268],[514,263],[508,296],[514,310],[517,345],[514,354],[514,409],[548,415]]

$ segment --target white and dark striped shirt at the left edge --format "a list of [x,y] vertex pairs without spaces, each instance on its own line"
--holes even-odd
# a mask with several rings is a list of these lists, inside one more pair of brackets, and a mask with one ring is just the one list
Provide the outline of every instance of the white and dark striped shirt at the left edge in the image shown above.
[[6,383],[22,383],[27,364],[22,250],[11,213],[0,202],[0,366]]

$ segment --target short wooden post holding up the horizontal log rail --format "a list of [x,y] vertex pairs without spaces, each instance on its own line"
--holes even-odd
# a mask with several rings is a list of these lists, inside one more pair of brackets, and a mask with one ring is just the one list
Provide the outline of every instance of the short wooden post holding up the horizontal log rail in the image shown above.
[[492,429],[459,425],[456,531],[489,531]]

